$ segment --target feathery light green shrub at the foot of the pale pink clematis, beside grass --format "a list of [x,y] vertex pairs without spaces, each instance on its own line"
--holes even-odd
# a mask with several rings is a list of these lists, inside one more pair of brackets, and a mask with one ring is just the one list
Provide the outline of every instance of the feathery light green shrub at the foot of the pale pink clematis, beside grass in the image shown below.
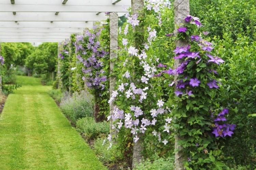
[[105,135],[95,140],[93,149],[99,160],[103,164],[120,162],[122,160],[122,154],[117,150],[117,145],[113,144],[111,148],[109,148],[109,145],[110,143]]

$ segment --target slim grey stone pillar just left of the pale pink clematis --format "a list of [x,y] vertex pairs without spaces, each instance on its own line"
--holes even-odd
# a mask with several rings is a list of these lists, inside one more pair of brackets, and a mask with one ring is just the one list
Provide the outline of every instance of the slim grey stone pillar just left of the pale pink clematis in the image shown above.
[[[111,96],[115,84],[116,77],[114,73],[114,66],[117,62],[117,49],[118,49],[118,15],[117,13],[110,13],[110,77],[109,77],[109,94]],[[109,115],[113,115],[114,110],[114,102],[109,103]],[[112,119],[110,119],[110,134],[114,136],[114,132],[112,130]]]

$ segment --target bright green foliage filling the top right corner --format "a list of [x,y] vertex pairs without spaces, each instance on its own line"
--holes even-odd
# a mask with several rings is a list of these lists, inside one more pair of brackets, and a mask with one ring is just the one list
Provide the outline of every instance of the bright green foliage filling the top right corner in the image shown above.
[[246,33],[251,40],[256,38],[255,0],[191,0],[190,13],[201,19],[211,36],[223,37],[228,32],[236,39]]

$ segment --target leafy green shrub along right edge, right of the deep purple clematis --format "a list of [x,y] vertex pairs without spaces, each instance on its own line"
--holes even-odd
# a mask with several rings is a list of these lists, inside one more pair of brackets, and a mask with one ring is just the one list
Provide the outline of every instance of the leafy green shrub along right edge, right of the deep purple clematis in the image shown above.
[[231,34],[223,33],[223,39],[218,41],[216,50],[218,56],[226,62],[219,68],[223,86],[217,95],[216,106],[220,103],[230,108],[228,119],[237,124],[232,139],[222,141],[225,156],[230,158],[230,165],[256,166],[255,140],[256,117],[256,41],[249,36],[237,34],[237,40]]

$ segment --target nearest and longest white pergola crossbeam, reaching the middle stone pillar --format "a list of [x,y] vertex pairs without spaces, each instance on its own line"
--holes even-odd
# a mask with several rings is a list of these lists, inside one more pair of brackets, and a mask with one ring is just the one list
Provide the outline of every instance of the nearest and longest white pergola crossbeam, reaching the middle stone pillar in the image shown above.
[[[98,1],[98,0],[96,0]],[[126,0],[129,1],[129,0]],[[102,1],[99,1],[102,2]],[[126,5],[126,8],[130,5]],[[0,12],[127,12],[122,5],[31,5],[31,4],[1,4]]]

